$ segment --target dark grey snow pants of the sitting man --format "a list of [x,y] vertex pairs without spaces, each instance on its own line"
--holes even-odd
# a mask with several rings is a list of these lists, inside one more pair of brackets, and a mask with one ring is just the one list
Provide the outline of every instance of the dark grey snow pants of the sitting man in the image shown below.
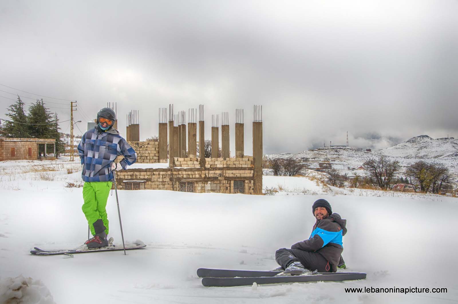
[[300,261],[308,270],[319,272],[331,272],[329,262],[319,253],[300,249],[280,248],[275,252],[275,261],[285,269],[291,262]]

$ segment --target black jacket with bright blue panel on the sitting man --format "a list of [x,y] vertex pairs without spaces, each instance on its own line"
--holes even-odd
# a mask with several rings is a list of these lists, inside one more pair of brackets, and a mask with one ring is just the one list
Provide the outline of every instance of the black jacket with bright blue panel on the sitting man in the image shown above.
[[347,233],[346,225],[347,220],[342,219],[338,213],[333,213],[316,221],[309,239],[292,245],[291,249],[316,251],[329,262],[335,272],[344,251],[342,237]]

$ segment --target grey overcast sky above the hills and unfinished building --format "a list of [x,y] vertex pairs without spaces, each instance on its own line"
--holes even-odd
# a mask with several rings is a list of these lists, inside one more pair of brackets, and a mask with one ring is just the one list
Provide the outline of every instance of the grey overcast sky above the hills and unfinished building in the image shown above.
[[[139,110],[140,140],[158,135],[158,108],[204,104],[208,139],[211,114],[229,112],[231,155],[235,109],[252,155],[254,104],[264,153],[344,145],[347,131],[373,149],[456,138],[457,12],[456,0],[2,0],[0,118],[13,94],[41,98],[19,89],[76,100],[82,131],[116,102],[125,135]],[[70,119],[69,102],[43,99]]]

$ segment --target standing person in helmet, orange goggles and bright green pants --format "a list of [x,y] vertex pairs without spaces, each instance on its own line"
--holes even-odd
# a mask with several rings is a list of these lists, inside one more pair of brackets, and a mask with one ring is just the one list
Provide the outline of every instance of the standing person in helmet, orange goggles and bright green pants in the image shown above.
[[[114,170],[125,169],[136,162],[134,149],[113,128],[116,114],[110,108],[98,111],[97,124],[88,130],[78,145],[84,180],[82,211],[86,216],[93,238],[85,244],[88,248],[108,246],[108,217],[105,207],[111,190]],[[114,163],[118,155],[124,155]]]

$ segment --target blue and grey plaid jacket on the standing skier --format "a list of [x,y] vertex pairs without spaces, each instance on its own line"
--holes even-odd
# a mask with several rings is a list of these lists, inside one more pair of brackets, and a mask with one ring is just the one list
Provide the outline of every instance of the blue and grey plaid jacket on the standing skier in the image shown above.
[[120,161],[123,169],[137,160],[137,153],[114,128],[101,133],[96,128],[88,130],[78,145],[78,155],[83,164],[81,177],[85,182],[113,180],[111,163],[118,155],[124,155]]

